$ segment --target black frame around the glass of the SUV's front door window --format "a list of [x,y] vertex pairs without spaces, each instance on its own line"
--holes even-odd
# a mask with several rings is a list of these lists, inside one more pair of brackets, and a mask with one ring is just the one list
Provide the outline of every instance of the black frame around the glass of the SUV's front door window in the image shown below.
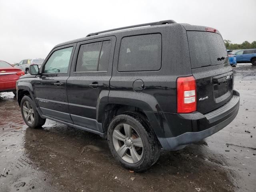
[[[43,73],[44,72],[44,66],[46,65],[47,61],[50,59],[50,57],[52,56],[52,54],[55,51],[58,51],[58,50],[61,50],[61,49],[64,49],[64,48],[70,48],[70,47],[73,47],[73,49],[72,49],[72,52],[71,52],[71,55],[70,55],[70,60],[69,60],[69,63],[68,63],[68,70],[67,70],[66,73]],[[52,49],[52,51],[50,52],[50,54],[47,56],[47,58],[44,60],[44,63],[42,64],[42,67],[41,67],[42,70],[40,70],[40,72],[42,72],[42,75],[46,76],[46,75],[53,75],[53,74],[70,74],[70,67],[71,67],[71,64],[72,64],[72,59],[73,59],[73,56],[74,56],[74,50],[75,49],[76,49],[76,43],[67,44],[67,45],[56,47],[56,48]]]

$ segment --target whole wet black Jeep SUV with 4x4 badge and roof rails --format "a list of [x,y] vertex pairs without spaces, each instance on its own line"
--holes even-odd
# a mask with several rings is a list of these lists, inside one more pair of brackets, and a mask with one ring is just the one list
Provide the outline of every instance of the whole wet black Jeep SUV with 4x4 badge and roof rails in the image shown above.
[[108,139],[130,170],[152,166],[227,126],[239,93],[222,36],[173,20],[92,33],[55,46],[17,81],[29,127],[46,118]]

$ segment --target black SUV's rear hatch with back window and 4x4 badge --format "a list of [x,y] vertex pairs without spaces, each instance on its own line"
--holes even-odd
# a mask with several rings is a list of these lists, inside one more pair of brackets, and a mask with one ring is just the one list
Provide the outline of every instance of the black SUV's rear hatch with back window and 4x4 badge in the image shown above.
[[217,32],[187,31],[197,111],[202,114],[224,105],[233,92],[232,68],[222,36]]

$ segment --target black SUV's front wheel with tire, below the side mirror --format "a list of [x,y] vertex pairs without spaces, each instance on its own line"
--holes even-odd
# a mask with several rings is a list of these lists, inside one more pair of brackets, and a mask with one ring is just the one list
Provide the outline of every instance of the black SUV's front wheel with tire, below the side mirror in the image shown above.
[[38,128],[44,125],[46,119],[41,118],[36,110],[35,102],[29,97],[24,96],[20,102],[20,110],[24,122],[30,128]]

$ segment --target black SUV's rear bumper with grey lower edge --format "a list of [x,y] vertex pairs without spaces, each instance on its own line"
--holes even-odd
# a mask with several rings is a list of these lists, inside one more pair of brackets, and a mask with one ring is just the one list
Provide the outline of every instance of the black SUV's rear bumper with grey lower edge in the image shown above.
[[150,116],[149,119],[156,117],[150,123],[162,148],[168,151],[178,150],[211,136],[232,122],[238,113],[239,100],[239,93],[234,90],[228,103],[208,114],[147,112],[146,115]]

